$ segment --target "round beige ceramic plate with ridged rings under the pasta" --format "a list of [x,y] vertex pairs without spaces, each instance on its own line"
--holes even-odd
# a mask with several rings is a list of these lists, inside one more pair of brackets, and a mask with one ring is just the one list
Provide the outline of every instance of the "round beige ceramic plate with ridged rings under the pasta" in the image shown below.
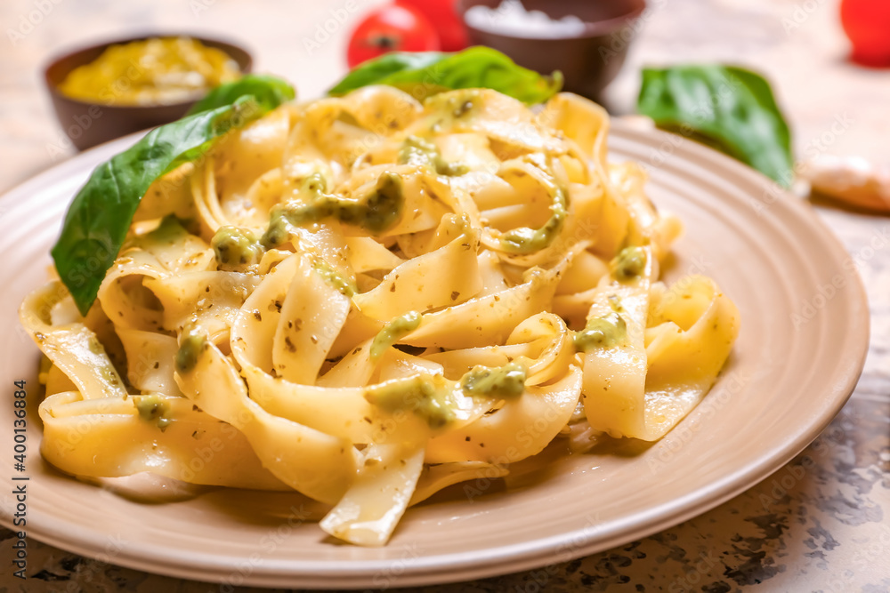
[[[651,164],[649,193],[683,221],[667,266],[713,276],[741,314],[714,389],[659,443],[554,457],[505,490],[486,479],[409,509],[389,545],[325,538],[290,495],[217,490],[146,504],[65,477],[37,453],[37,350],[16,310],[42,284],[71,196],[93,166],[134,142],[77,156],[0,198],[4,389],[28,381],[28,467],[16,472],[12,398],[0,408],[0,473],[28,476],[28,537],[136,569],[229,585],[389,588],[551,565],[657,533],[764,479],[844,405],[868,347],[854,262],[805,204],[708,148],[616,122],[611,155]],[[658,165],[658,166],[655,166]],[[9,454],[7,454],[9,453]],[[3,523],[11,525],[4,495]]]

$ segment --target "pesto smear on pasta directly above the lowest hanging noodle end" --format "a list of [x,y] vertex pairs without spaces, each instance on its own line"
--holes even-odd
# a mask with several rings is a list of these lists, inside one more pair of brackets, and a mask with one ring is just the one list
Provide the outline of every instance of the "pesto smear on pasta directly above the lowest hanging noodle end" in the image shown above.
[[[449,404],[451,389],[445,381],[438,375],[387,381],[368,389],[365,399],[389,413],[416,413],[431,429],[441,429],[456,418]],[[441,385],[435,385],[436,382]]]

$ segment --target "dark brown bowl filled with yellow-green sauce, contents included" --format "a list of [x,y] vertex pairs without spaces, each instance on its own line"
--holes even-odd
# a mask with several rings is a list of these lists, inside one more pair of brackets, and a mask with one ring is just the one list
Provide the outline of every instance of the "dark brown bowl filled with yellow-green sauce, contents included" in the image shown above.
[[250,71],[250,54],[195,36],[140,36],[93,45],[44,70],[56,116],[80,150],[167,124],[207,91]]

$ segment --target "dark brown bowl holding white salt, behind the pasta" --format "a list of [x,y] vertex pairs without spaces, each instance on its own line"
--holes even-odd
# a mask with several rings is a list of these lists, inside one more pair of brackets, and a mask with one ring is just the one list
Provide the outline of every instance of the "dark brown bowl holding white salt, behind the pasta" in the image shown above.
[[[472,6],[495,8],[501,0],[458,0],[464,14]],[[585,23],[581,36],[538,38],[492,33],[467,25],[470,40],[510,56],[525,68],[549,74],[561,70],[564,90],[598,99],[618,75],[643,15],[645,0],[522,0],[527,11],[545,12],[551,19],[575,15]]]

